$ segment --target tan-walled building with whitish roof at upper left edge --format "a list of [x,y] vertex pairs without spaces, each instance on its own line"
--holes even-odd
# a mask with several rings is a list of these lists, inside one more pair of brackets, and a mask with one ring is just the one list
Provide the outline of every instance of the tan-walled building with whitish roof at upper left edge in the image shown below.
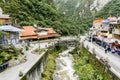
[[11,24],[11,18],[7,14],[3,14],[2,8],[0,8],[0,25]]

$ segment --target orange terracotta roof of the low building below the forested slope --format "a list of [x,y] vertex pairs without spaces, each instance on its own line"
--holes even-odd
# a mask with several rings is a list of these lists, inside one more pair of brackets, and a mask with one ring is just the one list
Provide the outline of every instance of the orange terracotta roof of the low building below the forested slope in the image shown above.
[[25,39],[45,39],[52,37],[59,37],[53,28],[34,28],[33,26],[23,26],[23,30],[21,32],[21,40]]

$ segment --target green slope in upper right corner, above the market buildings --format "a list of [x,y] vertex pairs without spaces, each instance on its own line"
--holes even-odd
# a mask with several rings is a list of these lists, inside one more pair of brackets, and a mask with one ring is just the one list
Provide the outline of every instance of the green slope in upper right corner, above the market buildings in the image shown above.
[[111,0],[96,14],[96,17],[107,18],[109,16],[120,16],[120,0]]

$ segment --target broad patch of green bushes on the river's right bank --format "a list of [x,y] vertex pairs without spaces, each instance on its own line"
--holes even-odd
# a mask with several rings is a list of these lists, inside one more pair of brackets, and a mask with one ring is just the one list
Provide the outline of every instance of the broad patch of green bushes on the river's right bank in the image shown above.
[[71,52],[75,59],[75,70],[80,80],[112,80],[111,75],[105,72],[105,67],[87,49],[81,48],[77,53],[77,48]]

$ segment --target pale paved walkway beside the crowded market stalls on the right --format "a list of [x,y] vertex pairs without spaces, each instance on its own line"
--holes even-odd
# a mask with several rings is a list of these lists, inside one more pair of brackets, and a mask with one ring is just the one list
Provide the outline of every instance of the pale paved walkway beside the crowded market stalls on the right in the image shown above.
[[111,53],[106,54],[102,47],[88,41],[84,41],[84,45],[89,47],[90,52],[92,52],[94,48],[99,58],[100,57],[103,57],[103,59],[107,58],[109,61],[108,64],[111,66],[110,70],[120,78],[120,56]]

